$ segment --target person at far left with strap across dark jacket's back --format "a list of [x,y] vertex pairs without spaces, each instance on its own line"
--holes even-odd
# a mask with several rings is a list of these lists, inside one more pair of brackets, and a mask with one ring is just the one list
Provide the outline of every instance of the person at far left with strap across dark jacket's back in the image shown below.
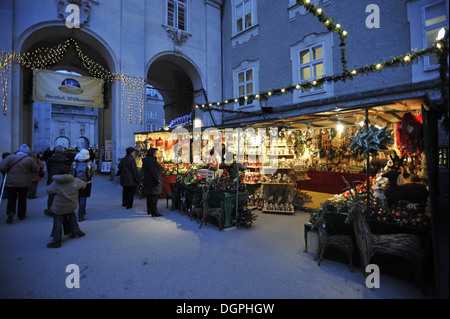
[[8,192],[6,204],[6,223],[11,224],[16,213],[19,220],[26,218],[28,187],[31,184],[31,174],[39,172],[39,166],[30,156],[30,148],[23,144],[15,154],[7,156],[0,163],[0,171],[6,175],[5,188]]

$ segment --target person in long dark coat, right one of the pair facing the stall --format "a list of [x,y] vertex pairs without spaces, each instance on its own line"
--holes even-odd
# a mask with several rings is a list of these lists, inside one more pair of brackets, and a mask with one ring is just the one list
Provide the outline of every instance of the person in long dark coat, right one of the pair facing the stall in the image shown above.
[[150,148],[147,157],[142,161],[144,174],[144,195],[147,197],[147,215],[162,216],[157,211],[158,197],[163,192],[162,166],[156,160],[157,148]]

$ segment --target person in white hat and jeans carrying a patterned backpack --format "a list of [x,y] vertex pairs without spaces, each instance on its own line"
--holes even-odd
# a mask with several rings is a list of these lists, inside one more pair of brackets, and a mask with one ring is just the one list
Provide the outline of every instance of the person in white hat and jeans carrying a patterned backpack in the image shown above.
[[91,197],[92,177],[94,176],[94,163],[90,160],[90,153],[87,149],[82,149],[75,155],[72,163],[72,174],[86,183],[86,188],[78,192],[78,221],[82,222],[86,215],[87,198]]

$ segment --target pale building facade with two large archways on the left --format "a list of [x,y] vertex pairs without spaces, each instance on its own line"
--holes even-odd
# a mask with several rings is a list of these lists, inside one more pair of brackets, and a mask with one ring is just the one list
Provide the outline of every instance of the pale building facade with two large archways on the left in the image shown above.
[[[166,122],[195,112],[194,103],[221,99],[221,3],[1,1],[0,25],[4,32],[0,52],[2,64],[5,63],[2,84],[6,85],[0,126],[7,134],[0,137],[0,152],[14,152],[23,143],[32,148],[53,148],[69,132],[73,136],[68,143],[75,146],[81,140],[73,139],[91,134],[92,124],[95,132],[89,136],[89,146],[101,148],[111,140],[114,167],[125,155],[125,149],[134,145],[134,132],[146,129],[146,84],[161,93]],[[56,57],[52,48],[67,40],[70,45]],[[45,55],[46,52],[50,53]],[[58,127],[52,128],[53,124],[43,119],[50,114],[56,119],[64,112],[49,104],[35,107],[38,103],[32,98],[34,68],[103,79],[112,75],[113,80],[105,81],[104,106],[89,115],[89,125],[77,127],[72,121],[73,127],[56,124]],[[76,111],[76,116],[80,112],[84,113]],[[211,117],[203,115],[197,112],[195,125],[212,124]],[[77,121],[75,117],[74,120]],[[37,129],[47,131],[44,138],[36,137],[35,124]],[[66,135],[60,135],[61,130]]]

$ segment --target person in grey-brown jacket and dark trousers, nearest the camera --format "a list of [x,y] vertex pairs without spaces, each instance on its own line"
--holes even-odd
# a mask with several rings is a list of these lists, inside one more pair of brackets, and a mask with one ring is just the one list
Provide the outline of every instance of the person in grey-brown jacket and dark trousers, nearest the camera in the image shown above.
[[65,221],[69,226],[69,237],[83,237],[84,232],[80,230],[75,216],[77,208],[78,192],[86,187],[81,179],[73,177],[70,166],[63,166],[58,175],[53,175],[53,182],[47,187],[47,193],[52,195],[53,216],[53,241],[47,244],[48,248],[61,247],[62,228]]

